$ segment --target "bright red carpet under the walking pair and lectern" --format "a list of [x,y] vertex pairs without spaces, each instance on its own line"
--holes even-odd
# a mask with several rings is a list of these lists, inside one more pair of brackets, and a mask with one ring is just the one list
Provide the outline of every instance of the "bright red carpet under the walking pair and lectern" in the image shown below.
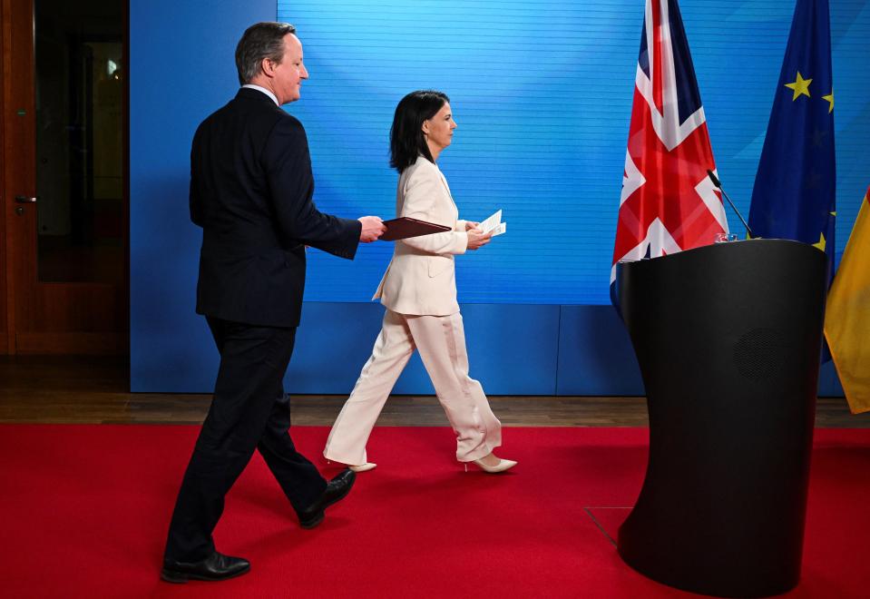
[[[377,469],[311,531],[255,457],[215,534],[220,550],[250,559],[250,574],[161,583],[166,526],[197,430],[0,427],[4,596],[692,596],[633,572],[608,538],[640,489],[642,428],[505,428],[501,453],[520,465],[503,476],[465,474],[446,428],[376,428]],[[294,429],[312,458],[326,436]],[[870,430],[816,430],[803,576],[785,596],[867,596],[868,473]]]

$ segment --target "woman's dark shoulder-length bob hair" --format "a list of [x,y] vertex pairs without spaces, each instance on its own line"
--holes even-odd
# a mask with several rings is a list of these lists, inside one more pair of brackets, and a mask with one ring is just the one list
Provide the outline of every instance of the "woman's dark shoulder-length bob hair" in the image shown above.
[[423,122],[448,102],[446,93],[433,90],[411,92],[402,98],[390,127],[390,166],[396,171],[404,172],[421,154],[429,162],[435,162],[423,135]]

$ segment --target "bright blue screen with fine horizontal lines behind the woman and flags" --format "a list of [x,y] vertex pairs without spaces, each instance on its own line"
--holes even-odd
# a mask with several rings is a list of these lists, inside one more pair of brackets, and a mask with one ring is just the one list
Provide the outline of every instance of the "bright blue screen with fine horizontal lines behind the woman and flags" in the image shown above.
[[[508,234],[459,261],[460,302],[604,304],[643,0],[279,0],[311,78],[288,106],[305,123],[327,211],[392,214],[387,140],[398,100],[434,87],[459,128],[439,159],[464,218],[503,208]],[[719,178],[748,215],[794,0],[680,5]],[[870,182],[867,0],[832,0],[836,249]],[[742,231],[727,210],[732,231]],[[542,242],[539,235],[545,231]],[[307,299],[367,300],[388,260],[312,255]]]

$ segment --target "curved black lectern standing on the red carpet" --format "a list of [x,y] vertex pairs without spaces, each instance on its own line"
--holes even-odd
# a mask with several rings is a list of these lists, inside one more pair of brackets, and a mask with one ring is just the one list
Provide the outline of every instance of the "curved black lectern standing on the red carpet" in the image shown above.
[[687,591],[797,584],[826,298],[824,252],[718,243],[620,264],[650,410],[650,461],[622,559]]

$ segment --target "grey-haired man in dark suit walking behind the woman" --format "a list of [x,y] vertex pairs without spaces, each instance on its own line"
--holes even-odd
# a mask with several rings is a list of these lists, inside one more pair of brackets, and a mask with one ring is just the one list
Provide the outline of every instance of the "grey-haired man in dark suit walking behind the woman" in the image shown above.
[[191,150],[191,220],[202,227],[197,312],[220,352],[214,398],[184,473],[161,578],[223,580],[247,560],[215,550],[224,496],[259,450],[296,511],[313,528],[347,495],[354,473],[331,481],[288,433],[282,380],[305,286],[305,246],[353,259],[385,227],[318,211],[302,124],[280,106],[299,99],[308,72],[292,25],[249,27],[236,49],[242,89],[200,124]]

